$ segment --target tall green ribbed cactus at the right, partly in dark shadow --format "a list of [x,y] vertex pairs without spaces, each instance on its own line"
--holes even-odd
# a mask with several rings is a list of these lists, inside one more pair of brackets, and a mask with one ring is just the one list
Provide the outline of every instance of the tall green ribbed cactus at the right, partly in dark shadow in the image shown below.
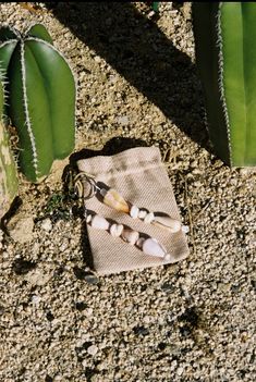
[[256,3],[192,4],[209,137],[231,167],[256,164]]

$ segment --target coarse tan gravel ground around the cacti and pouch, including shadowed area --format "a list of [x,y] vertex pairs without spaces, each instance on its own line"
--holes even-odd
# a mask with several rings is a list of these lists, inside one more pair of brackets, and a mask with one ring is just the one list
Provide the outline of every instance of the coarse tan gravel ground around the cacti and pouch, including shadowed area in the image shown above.
[[82,219],[62,202],[69,159],[39,185],[21,175],[0,233],[0,381],[256,380],[255,170],[211,151],[190,8],[0,4],[1,23],[44,23],[73,69],[76,152],[160,148],[191,250],[97,278]]

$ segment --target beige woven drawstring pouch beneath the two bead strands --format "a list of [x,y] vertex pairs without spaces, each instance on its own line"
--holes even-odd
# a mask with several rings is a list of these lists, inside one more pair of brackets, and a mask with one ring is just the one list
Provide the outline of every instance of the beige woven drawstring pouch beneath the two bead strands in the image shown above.
[[[77,165],[80,171],[94,174],[97,182],[117,189],[131,204],[180,219],[172,186],[157,147],[136,147],[111,157],[82,159]],[[145,224],[139,219],[134,220],[129,214],[103,205],[97,197],[87,200],[86,206],[106,219],[157,238],[171,255],[168,262],[176,262],[188,255],[186,237],[182,231],[171,234],[168,230]],[[87,230],[94,269],[98,274],[163,264],[162,259],[145,255],[120,237],[113,238],[108,231],[93,229],[89,224]]]

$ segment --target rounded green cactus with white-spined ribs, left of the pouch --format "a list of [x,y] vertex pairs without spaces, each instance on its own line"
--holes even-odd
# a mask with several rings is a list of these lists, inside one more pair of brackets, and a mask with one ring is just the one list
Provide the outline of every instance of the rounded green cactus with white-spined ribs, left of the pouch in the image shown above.
[[24,37],[0,29],[0,61],[9,82],[9,116],[16,127],[19,164],[32,182],[50,172],[54,159],[74,148],[75,82],[47,29],[34,25]]

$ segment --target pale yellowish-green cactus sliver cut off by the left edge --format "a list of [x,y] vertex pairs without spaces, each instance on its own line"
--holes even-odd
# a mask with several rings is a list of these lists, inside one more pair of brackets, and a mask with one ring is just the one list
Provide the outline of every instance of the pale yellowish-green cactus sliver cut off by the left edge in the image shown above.
[[2,121],[3,104],[3,87],[0,82],[0,220],[8,212],[17,193],[16,167],[8,145],[8,133]]

